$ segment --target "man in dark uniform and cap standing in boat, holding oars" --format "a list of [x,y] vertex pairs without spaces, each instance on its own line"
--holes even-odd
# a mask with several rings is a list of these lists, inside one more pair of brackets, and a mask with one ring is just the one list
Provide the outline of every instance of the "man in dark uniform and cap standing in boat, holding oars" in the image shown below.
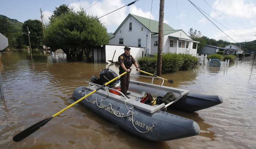
[[129,95],[130,93],[127,92],[127,90],[129,88],[129,83],[130,83],[130,72],[131,72],[130,67],[132,66],[132,64],[134,64],[136,67],[136,70],[140,71],[138,64],[136,63],[134,58],[130,55],[130,50],[131,48],[128,46],[124,47],[124,53],[118,57],[118,62],[120,64],[119,74],[127,72],[125,75],[121,76],[120,78],[121,92],[129,99],[130,97],[128,97],[127,95]]

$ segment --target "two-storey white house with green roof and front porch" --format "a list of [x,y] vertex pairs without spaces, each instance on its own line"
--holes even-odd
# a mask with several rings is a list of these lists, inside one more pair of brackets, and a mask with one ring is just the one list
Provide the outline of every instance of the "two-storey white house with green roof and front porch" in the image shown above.
[[[158,24],[158,21],[128,14],[109,40],[109,45],[145,47],[145,54],[154,55],[158,50]],[[175,30],[164,23],[163,53],[196,54],[197,43],[182,29]]]

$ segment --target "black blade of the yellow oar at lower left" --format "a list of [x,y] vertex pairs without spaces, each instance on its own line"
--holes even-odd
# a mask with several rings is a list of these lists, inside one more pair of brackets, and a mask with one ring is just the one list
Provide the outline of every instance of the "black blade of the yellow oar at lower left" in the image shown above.
[[46,123],[48,123],[52,118],[53,117],[44,119],[44,120],[30,126],[29,128],[27,128],[24,131],[20,132],[19,134],[15,135],[12,138],[12,140],[15,142],[20,142],[21,140],[25,139],[26,137],[28,137],[29,135],[33,134],[35,131],[40,129],[42,126],[44,126]]

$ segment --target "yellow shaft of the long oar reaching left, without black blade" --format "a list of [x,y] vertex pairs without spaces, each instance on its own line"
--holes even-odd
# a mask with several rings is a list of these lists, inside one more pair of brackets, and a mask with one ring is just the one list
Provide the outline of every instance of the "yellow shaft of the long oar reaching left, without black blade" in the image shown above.
[[87,94],[86,96],[76,100],[75,102],[73,102],[72,104],[70,104],[69,106],[63,108],[62,110],[60,110],[58,113],[54,114],[52,117],[56,117],[57,115],[61,114],[62,112],[64,112],[66,109],[70,108],[71,106],[75,105],[76,103],[82,101],[83,99],[85,99],[86,97],[90,96],[91,94],[95,93],[96,91],[100,90],[101,88],[105,87],[106,85],[108,85],[109,83],[115,81],[116,79],[120,78],[121,76],[123,76],[124,74],[126,74],[127,72],[122,73],[121,75],[115,77],[114,79],[108,81],[107,83],[101,85],[100,87],[96,88],[95,90],[93,90],[92,92],[90,92],[89,94]]

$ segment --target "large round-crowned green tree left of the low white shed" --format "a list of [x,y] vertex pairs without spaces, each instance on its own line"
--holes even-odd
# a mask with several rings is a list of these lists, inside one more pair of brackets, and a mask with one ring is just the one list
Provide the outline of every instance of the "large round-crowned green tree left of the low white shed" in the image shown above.
[[107,44],[106,27],[88,15],[83,8],[61,14],[45,29],[44,41],[51,49],[61,48],[70,60],[82,60],[83,53],[89,60],[94,47]]

